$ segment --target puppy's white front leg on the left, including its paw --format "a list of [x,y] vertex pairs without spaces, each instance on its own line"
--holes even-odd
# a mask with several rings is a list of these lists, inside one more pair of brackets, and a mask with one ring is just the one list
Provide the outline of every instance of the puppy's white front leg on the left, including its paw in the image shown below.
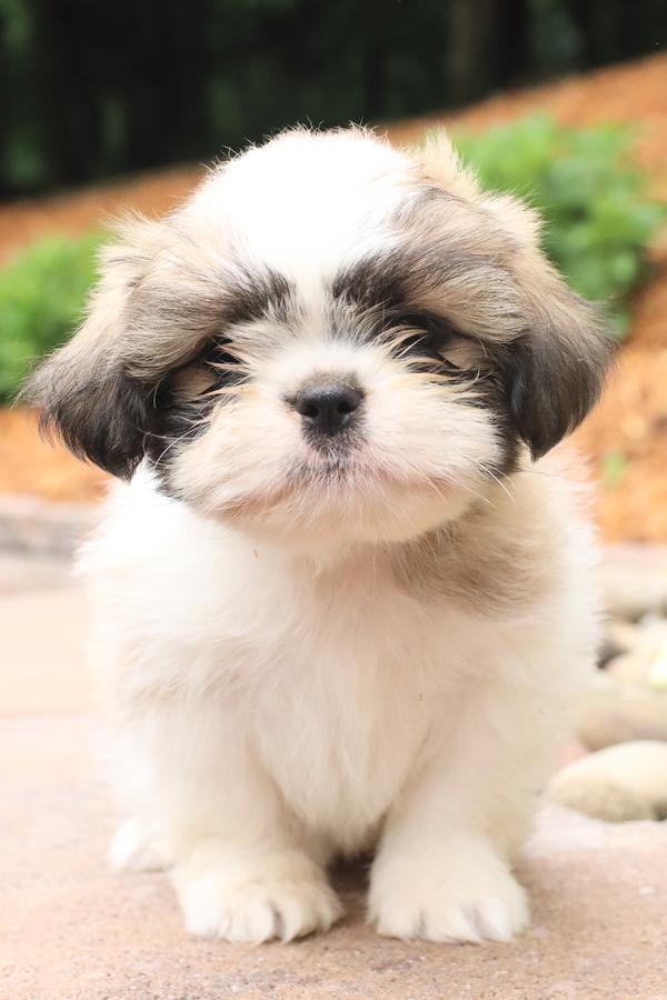
[[340,917],[326,846],[307,837],[223,707],[153,708],[133,742],[190,933],[288,941]]

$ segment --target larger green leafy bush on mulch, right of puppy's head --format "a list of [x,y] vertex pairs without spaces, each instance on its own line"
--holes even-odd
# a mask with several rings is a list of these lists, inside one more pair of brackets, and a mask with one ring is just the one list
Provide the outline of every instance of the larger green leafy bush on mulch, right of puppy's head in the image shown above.
[[573,288],[607,307],[618,336],[646,247],[665,218],[631,166],[630,141],[619,126],[567,129],[544,116],[455,137],[485,187],[539,210],[545,251]]

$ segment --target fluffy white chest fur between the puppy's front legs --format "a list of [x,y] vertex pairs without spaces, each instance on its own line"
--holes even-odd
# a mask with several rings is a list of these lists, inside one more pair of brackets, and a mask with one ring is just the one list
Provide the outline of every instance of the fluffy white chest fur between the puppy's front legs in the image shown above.
[[266,664],[252,723],[262,762],[344,847],[389,808],[456,697],[441,640],[441,624],[361,600],[321,617],[311,608]]

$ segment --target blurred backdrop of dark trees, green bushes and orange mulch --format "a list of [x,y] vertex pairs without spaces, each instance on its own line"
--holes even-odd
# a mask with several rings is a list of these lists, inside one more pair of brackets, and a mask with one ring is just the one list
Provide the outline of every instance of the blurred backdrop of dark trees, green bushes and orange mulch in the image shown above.
[[605,539],[667,541],[666,39],[664,0],[0,0],[0,497],[100,493],[11,403],[76,327],[104,220],[296,122],[445,123],[605,303],[617,372],[576,443]]

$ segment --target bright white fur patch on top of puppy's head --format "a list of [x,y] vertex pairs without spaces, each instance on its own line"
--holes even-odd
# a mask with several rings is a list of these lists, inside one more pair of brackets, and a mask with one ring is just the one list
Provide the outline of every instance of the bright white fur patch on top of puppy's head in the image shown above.
[[205,230],[208,243],[215,220],[218,246],[248,249],[317,300],[321,276],[332,274],[350,251],[355,259],[392,242],[387,219],[415,173],[406,154],[361,132],[312,142],[307,130],[293,130],[213,171],[179,223]]

